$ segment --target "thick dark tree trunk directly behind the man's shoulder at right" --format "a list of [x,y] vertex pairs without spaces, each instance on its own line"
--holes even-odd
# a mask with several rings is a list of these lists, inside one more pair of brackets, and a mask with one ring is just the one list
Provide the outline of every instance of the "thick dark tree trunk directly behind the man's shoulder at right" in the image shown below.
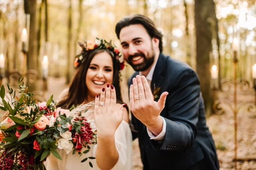
[[210,87],[210,51],[212,51],[212,21],[215,21],[215,5],[213,0],[195,0],[196,28],[196,69],[201,82],[206,113],[212,109],[212,90]]

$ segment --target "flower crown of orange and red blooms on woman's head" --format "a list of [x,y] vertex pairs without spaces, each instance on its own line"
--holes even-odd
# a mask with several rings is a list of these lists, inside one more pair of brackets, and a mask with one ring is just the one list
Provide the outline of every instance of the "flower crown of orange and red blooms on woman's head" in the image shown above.
[[78,45],[82,47],[82,51],[75,57],[76,58],[74,61],[75,68],[77,68],[83,62],[84,58],[88,53],[91,53],[93,50],[96,50],[96,49],[105,49],[105,50],[108,49],[109,51],[111,51],[114,55],[114,58],[118,61],[118,63],[120,63],[120,70],[124,68],[124,61],[120,62],[120,57],[122,56],[122,54],[116,48],[116,46],[112,45],[111,41],[108,42],[104,39],[96,38],[95,41],[88,40],[88,41],[85,41],[84,43],[78,42]]

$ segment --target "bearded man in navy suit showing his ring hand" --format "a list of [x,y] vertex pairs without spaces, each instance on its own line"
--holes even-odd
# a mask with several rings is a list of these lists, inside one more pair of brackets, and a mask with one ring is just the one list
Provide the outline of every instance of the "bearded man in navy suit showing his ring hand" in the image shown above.
[[136,71],[130,107],[144,170],[218,170],[196,72],[162,54],[162,33],[146,16],[122,19],[116,35]]

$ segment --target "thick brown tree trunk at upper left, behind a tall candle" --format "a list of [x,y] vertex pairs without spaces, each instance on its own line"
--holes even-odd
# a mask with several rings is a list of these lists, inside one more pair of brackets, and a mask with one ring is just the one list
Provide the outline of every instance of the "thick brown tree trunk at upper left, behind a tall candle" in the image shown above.
[[[28,41],[28,54],[26,57],[28,70],[35,70],[37,72],[37,30],[36,30],[36,0],[24,0],[25,12],[30,14],[29,25],[29,41]],[[33,77],[32,77],[33,76]],[[28,80],[34,78],[34,76],[28,74]],[[36,84],[28,81],[28,87],[31,92],[36,90]]]

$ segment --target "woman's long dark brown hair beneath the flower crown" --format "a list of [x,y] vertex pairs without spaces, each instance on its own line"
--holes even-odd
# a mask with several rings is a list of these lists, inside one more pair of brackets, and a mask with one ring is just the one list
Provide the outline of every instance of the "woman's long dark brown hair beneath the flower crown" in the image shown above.
[[124,103],[121,96],[120,91],[120,77],[119,77],[119,70],[120,70],[120,63],[114,58],[114,55],[108,49],[96,49],[91,53],[88,53],[87,56],[84,56],[84,61],[78,66],[75,76],[70,84],[68,94],[64,97],[60,102],[58,102],[57,107],[62,107],[63,109],[69,109],[70,107],[77,106],[82,104],[88,97],[88,88],[86,86],[86,74],[87,70],[90,66],[90,63],[94,56],[99,53],[103,53],[106,51],[112,59],[113,62],[113,82],[112,85],[116,89],[116,100],[117,103]]

